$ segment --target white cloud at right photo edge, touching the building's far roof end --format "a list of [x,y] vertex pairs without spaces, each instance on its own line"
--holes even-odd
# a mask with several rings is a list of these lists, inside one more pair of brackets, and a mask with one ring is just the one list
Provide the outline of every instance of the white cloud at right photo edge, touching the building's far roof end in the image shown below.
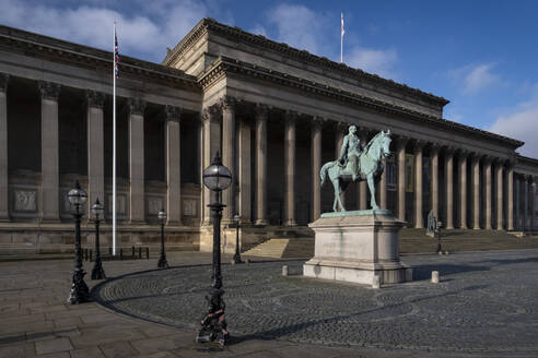
[[530,100],[517,105],[512,112],[499,116],[488,130],[524,141],[525,145],[518,152],[538,158],[537,128],[538,94],[535,94]]

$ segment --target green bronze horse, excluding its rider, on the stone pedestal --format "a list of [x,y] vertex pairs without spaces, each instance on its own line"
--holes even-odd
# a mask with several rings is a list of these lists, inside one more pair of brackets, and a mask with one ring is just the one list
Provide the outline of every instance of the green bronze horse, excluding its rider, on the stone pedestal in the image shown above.
[[[364,147],[359,156],[359,172],[355,181],[366,180],[370,189],[370,205],[373,210],[378,210],[375,201],[375,184],[379,181],[383,174],[383,158],[390,156],[390,130],[381,131],[369,144]],[[341,212],[346,208],[340,199],[341,193],[346,191],[349,183],[352,181],[352,172],[348,167],[342,167],[339,160],[326,163],[319,172],[321,177],[321,187],[326,181],[327,175],[335,187],[335,203],[332,210],[338,212],[338,206]]]

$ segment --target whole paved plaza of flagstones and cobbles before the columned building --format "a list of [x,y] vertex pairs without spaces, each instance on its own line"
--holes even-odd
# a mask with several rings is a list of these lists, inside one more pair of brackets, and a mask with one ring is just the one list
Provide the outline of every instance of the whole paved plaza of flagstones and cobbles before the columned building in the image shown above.
[[222,350],[194,343],[209,254],[171,253],[164,271],[155,259],[105,262],[113,278],[87,279],[98,302],[79,306],[65,303],[71,261],[3,262],[0,357],[534,357],[537,253],[407,255],[416,281],[378,290],[302,278],[302,261],[225,264]]

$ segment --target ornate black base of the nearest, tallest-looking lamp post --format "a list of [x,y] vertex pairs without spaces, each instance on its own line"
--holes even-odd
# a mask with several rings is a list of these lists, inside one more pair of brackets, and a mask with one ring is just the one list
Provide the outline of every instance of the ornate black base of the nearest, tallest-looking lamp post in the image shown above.
[[209,303],[209,312],[201,321],[201,329],[198,331],[196,342],[209,343],[217,342],[221,347],[230,339],[230,333],[226,331],[226,320],[224,318],[224,300],[222,299],[224,290],[211,288],[206,299]]

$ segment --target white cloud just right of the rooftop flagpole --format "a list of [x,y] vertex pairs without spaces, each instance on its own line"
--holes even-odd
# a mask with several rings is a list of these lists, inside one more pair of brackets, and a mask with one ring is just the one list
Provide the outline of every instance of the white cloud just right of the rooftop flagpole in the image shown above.
[[363,71],[375,73],[384,77],[394,77],[393,69],[398,55],[395,50],[375,50],[363,47],[354,47],[349,56],[344,55],[346,62]]

